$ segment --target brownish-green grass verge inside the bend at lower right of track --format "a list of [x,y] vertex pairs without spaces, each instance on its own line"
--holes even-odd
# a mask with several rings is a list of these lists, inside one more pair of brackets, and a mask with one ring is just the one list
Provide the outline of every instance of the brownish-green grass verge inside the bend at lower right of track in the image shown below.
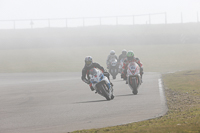
[[163,75],[166,115],[146,121],[73,133],[200,133],[200,70]]

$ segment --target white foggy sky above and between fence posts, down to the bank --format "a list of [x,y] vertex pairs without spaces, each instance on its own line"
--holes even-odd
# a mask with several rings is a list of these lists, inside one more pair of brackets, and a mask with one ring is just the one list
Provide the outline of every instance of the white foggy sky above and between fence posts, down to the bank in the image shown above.
[[[12,21],[17,20],[15,28],[41,28],[48,26],[48,19],[53,27],[65,27],[70,18],[87,18],[85,25],[99,25],[98,17],[104,25],[148,24],[148,14],[166,13],[167,23],[197,22],[200,14],[199,0],[1,0],[0,29],[13,28]],[[124,17],[120,17],[124,16]],[[128,16],[128,17],[125,17]],[[97,18],[96,18],[97,17]],[[151,23],[165,23],[165,15],[152,15]],[[53,20],[58,19],[59,20]],[[34,21],[36,20],[37,21]],[[38,19],[40,21],[38,21]],[[63,20],[64,19],[64,20]],[[26,21],[20,21],[26,20]],[[69,27],[82,26],[80,19],[68,20]],[[31,25],[32,24],[32,25]]]

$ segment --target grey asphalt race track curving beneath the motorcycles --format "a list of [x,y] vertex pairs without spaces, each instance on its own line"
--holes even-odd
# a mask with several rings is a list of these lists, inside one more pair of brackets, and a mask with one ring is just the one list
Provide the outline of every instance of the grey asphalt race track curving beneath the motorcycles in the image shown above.
[[0,133],[66,133],[162,116],[167,111],[159,73],[146,72],[138,94],[117,76],[107,101],[81,73],[0,74]]

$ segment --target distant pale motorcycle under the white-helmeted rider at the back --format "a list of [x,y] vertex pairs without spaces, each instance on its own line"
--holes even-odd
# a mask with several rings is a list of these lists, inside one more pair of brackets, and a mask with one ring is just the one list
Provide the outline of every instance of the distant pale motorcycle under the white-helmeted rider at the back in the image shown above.
[[117,62],[117,59],[111,59],[110,60],[109,73],[112,75],[113,79],[116,79],[116,76],[118,74],[118,62]]

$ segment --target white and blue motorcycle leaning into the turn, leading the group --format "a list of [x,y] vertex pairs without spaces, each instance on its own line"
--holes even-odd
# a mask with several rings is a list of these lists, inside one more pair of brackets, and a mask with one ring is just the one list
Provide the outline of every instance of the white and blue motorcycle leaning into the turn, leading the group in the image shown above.
[[90,82],[96,92],[107,100],[114,99],[113,88],[108,78],[98,68],[92,68],[89,71]]

